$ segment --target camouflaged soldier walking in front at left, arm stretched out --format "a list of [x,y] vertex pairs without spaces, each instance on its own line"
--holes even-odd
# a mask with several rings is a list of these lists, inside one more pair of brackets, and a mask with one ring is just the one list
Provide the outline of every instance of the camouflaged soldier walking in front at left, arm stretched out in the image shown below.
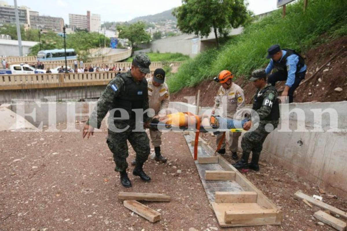
[[[91,134],[93,135],[94,127],[100,128],[102,119],[110,110],[107,144],[116,163],[115,171],[120,172],[120,181],[124,187],[132,186],[126,172],[128,168],[127,140],[136,152],[136,166],[133,174],[144,181],[151,180],[142,168],[150,153],[149,139],[143,127],[137,130],[142,119],[145,123],[150,121],[147,113],[137,112],[138,110],[143,112],[149,108],[147,81],[144,77],[150,73],[150,64],[151,61],[146,54],[136,55],[131,70],[117,74],[109,82],[83,129],[83,138],[85,136],[89,138]],[[137,109],[136,114],[134,109]],[[136,131],[134,131],[135,127]]]

